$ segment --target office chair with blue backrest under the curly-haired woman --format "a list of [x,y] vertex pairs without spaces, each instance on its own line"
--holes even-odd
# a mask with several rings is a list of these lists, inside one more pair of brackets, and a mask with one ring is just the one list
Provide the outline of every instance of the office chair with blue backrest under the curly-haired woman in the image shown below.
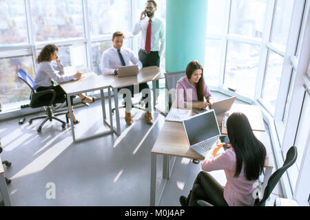
[[[45,113],[46,115],[42,115],[42,116],[38,116],[35,118],[31,118],[29,120],[29,124],[32,124],[32,120],[36,120],[39,118],[45,118],[45,120],[43,120],[43,122],[40,124],[39,128],[37,129],[38,132],[42,131],[42,126],[45,124],[45,122],[47,122],[48,120],[52,121],[57,120],[59,122],[61,122],[61,126],[63,129],[65,129],[65,122],[63,120],[60,120],[59,118],[56,118],[55,116],[57,115],[63,115],[65,113],[56,113],[53,114],[52,112],[52,105],[54,104],[55,101],[55,96],[56,93],[54,90],[52,89],[47,89],[44,91],[35,91],[34,90],[34,80],[31,78],[31,76],[29,74],[27,74],[25,71],[23,71],[23,69],[19,69],[19,71],[17,72],[17,76],[18,78],[20,78],[21,80],[23,80],[23,82],[25,84],[28,85],[28,87],[30,87],[31,89],[31,95],[30,95],[30,107],[31,108],[38,108],[38,107],[44,107],[45,109]],[[65,102],[65,99],[63,100],[56,100],[57,103],[62,103]]]

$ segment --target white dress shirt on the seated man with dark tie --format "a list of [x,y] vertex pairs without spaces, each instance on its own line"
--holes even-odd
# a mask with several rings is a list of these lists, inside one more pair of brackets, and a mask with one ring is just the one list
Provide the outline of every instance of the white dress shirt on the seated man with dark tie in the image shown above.
[[[121,48],[121,54],[124,58],[126,66],[138,65],[138,69],[141,69],[142,63],[139,59],[134,56],[134,52],[128,48]],[[121,67],[121,58],[118,55],[117,49],[111,47],[110,49],[103,52],[101,57],[101,72],[102,74],[114,74],[115,69]]]

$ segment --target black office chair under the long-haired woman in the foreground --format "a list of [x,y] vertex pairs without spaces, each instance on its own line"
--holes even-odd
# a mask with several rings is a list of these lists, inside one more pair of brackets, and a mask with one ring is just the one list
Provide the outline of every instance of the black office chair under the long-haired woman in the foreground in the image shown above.
[[[254,206],[265,206],[266,200],[271,195],[272,190],[276,187],[276,184],[278,184],[278,181],[281,179],[283,173],[296,162],[297,159],[297,148],[296,146],[291,146],[289,148],[289,151],[287,151],[287,157],[285,158],[285,162],[282,167],[278,168],[268,179],[267,186],[264,191],[264,196],[261,200],[256,199]],[[199,206],[212,206],[207,201],[199,199],[197,201]]]

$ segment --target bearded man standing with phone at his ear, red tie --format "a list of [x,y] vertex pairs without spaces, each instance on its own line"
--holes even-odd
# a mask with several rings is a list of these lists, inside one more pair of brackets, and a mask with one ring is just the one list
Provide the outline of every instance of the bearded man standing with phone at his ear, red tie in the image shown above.
[[[165,26],[161,19],[154,17],[156,10],[156,1],[147,1],[145,10],[141,12],[140,20],[134,26],[134,35],[141,32],[138,58],[143,67],[160,67],[161,57],[165,52]],[[158,88],[158,81],[156,87]],[[152,118],[151,113],[149,114]]]

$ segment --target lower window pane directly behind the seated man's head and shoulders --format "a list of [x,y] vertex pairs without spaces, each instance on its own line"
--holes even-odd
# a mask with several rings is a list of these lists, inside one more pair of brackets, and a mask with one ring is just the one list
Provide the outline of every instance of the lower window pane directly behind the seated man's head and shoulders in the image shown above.
[[[101,75],[101,56],[105,50],[112,47],[112,41],[94,42],[92,43],[92,65],[94,72]],[[123,47],[132,48],[132,39],[124,39]],[[138,54],[136,54],[138,57]]]

